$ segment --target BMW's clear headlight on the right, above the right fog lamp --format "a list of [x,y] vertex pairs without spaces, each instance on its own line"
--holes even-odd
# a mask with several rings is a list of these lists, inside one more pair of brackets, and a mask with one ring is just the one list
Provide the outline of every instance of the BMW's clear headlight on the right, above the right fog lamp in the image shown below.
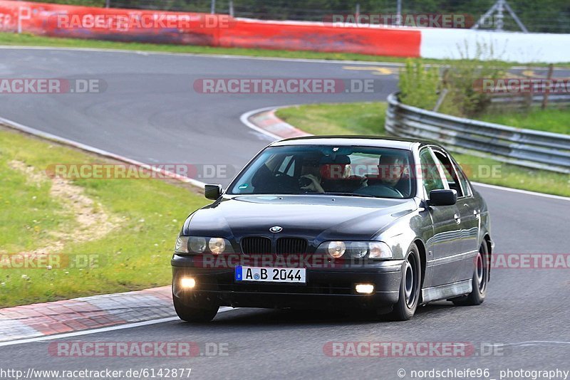
[[328,253],[332,258],[393,258],[392,250],[382,241],[325,241],[317,253]]

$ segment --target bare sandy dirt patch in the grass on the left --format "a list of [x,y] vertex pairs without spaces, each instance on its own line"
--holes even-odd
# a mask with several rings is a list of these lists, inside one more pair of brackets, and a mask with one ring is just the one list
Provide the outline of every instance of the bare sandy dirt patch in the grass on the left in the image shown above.
[[73,231],[54,233],[57,241],[31,253],[55,253],[61,251],[68,241],[81,243],[97,240],[119,226],[118,219],[110,216],[103,206],[95,204],[93,199],[86,196],[81,186],[74,185],[68,179],[51,179],[45,172],[36,171],[34,167],[21,161],[12,160],[8,165],[11,169],[24,173],[29,184],[51,181],[50,195],[57,199],[64,212],[73,214],[78,223],[78,227]]

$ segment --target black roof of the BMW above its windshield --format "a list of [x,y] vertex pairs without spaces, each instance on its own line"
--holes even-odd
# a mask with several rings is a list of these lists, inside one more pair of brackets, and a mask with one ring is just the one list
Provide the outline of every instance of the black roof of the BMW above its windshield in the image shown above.
[[273,144],[270,147],[282,147],[287,145],[336,145],[339,147],[343,146],[361,146],[361,147],[381,147],[381,148],[395,148],[395,149],[406,149],[412,150],[414,146],[422,145],[435,145],[440,147],[439,144],[435,142],[430,142],[421,139],[411,139],[404,137],[388,137],[388,136],[303,136],[303,137],[292,137],[289,139],[282,139]]

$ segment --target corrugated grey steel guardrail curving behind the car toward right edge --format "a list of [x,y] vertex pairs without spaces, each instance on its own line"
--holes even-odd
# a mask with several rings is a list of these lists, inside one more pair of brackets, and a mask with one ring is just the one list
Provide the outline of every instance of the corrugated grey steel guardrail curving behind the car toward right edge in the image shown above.
[[570,135],[522,130],[404,105],[388,96],[385,129],[400,137],[431,139],[452,152],[570,174]]

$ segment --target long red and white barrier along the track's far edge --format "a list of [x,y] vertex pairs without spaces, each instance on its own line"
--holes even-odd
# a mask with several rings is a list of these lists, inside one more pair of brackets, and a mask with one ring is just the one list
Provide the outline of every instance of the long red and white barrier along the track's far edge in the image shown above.
[[478,44],[494,59],[570,62],[569,34],[493,33],[451,28],[351,27],[333,23],[260,21],[137,9],[0,0],[0,31],[112,41],[361,53],[375,56],[460,58]]

